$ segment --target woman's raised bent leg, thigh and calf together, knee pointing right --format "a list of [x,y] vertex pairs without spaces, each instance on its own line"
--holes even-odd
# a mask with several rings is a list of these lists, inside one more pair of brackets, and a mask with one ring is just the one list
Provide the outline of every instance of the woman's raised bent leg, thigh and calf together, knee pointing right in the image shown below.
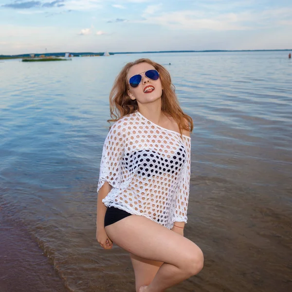
[[144,216],[131,215],[105,229],[110,239],[129,253],[163,262],[147,287],[149,292],[163,292],[203,267],[202,251],[194,242]]

